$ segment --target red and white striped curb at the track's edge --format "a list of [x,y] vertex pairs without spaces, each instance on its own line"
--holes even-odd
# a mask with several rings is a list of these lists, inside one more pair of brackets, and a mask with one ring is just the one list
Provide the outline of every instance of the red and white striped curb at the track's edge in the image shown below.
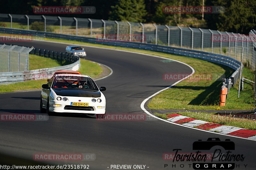
[[243,128],[237,128],[233,126],[225,126],[211,122],[200,121],[187,116],[179,114],[167,115],[167,121],[182,124],[197,129],[209,130],[212,132],[218,132],[221,134],[232,135],[237,137],[244,137],[248,139],[256,140],[256,130],[248,130]]

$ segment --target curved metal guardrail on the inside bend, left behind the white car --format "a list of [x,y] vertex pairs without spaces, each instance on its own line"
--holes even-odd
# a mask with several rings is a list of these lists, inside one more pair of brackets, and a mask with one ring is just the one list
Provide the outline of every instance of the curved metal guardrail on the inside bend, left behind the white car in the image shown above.
[[66,60],[71,62],[71,64],[52,67],[52,68],[44,68],[37,70],[29,70],[29,71],[16,71],[16,72],[2,72],[0,73],[0,84],[10,84],[10,83],[18,83],[28,80],[37,80],[43,78],[52,77],[53,73],[58,70],[78,70],[80,67],[80,58],[65,54],[62,52],[50,51],[45,49],[34,48],[30,54],[36,54],[40,56],[44,56],[47,58],[58,59],[58,60]]

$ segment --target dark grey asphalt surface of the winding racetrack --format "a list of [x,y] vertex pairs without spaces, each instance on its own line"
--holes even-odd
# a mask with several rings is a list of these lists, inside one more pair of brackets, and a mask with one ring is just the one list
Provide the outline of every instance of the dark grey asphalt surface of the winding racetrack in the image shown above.
[[[10,44],[10,42],[6,42]],[[56,42],[12,42],[55,51],[65,51],[65,44]],[[164,81],[164,73],[191,73],[177,62],[163,63],[161,58],[84,46],[86,59],[109,66],[113,74],[96,81],[106,86],[108,114],[141,114],[140,103],[174,81]],[[39,61],[40,62],[40,61]],[[0,113],[39,114],[40,91],[0,94]],[[255,169],[255,141],[178,126],[150,116],[146,121],[99,121],[93,116],[55,114],[48,121],[1,121],[1,153],[33,160],[35,153],[94,153],[94,161],[44,161],[49,164],[88,164],[90,169],[110,169],[110,165],[146,165],[146,169],[193,169],[192,161],[163,160],[164,153],[196,152],[192,144],[199,139],[230,139],[235,143],[232,154],[244,155],[236,169]],[[203,151],[203,152],[212,152]],[[227,154],[222,148],[222,152]],[[164,164],[168,164],[164,168]],[[172,164],[176,167],[172,168]],[[180,167],[184,164],[184,168]],[[109,167],[109,168],[108,168]],[[148,167],[148,168],[147,168]]]

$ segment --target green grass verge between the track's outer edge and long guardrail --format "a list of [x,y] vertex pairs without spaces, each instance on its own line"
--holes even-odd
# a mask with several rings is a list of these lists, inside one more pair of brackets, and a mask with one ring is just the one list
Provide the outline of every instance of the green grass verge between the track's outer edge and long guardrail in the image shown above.
[[[5,34],[6,35],[6,34]],[[35,38],[35,37],[33,37]],[[244,91],[241,91],[240,98],[237,99],[237,85],[231,88],[225,107],[219,107],[220,101],[220,87],[222,81],[217,80],[217,76],[225,74],[229,77],[234,70],[229,67],[207,62],[200,59],[189,58],[179,55],[171,55],[161,52],[154,52],[148,50],[140,50],[133,48],[107,46],[101,44],[92,44],[80,41],[69,41],[63,39],[40,38],[41,40],[65,42],[81,45],[90,45],[96,47],[105,47],[113,49],[123,49],[127,51],[140,52],[145,54],[163,56],[166,58],[175,59],[189,64],[195,69],[195,74],[210,74],[213,75],[211,81],[182,81],[174,87],[161,92],[155,96],[148,104],[150,109],[252,109],[254,108],[253,87],[244,85]],[[244,68],[243,75],[245,78],[253,80],[253,72],[248,68]]]

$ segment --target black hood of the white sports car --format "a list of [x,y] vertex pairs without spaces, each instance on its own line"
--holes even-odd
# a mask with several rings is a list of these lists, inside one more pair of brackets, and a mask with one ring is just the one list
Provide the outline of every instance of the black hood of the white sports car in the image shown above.
[[56,88],[53,91],[58,96],[73,96],[73,97],[100,97],[101,93],[97,90],[86,90],[86,89],[66,89]]

